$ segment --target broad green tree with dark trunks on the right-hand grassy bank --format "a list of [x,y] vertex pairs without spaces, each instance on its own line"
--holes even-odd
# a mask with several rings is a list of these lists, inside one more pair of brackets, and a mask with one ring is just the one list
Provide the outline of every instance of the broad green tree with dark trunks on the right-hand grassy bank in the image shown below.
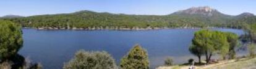
[[226,35],[223,32],[210,31],[208,29],[195,32],[192,46],[190,47],[192,54],[199,54],[198,56],[200,56],[203,53],[207,63],[213,54],[221,54],[224,59],[228,51],[229,43]]

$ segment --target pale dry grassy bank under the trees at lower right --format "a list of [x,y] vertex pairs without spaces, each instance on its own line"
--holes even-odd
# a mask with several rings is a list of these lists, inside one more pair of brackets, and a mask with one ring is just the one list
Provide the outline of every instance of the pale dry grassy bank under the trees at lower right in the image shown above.
[[[188,69],[189,65],[175,65],[171,67],[158,67],[156,69]],[[195,66],[196,69],[254,69],[256,58],[244,58],[238,60],[221,60],[216,64]]]

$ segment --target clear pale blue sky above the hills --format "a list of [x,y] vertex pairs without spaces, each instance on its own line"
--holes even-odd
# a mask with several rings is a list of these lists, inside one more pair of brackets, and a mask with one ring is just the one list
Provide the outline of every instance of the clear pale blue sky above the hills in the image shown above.
[[256,14],[255,0],[0,0],[0,16],[72,13],[79,10],[167,15],[190,7],[210,6],[228,15]]

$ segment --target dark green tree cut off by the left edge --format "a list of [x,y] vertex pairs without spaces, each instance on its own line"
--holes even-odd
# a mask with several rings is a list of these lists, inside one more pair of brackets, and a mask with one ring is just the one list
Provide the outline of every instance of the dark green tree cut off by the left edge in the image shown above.
[[17,54],[22,44],[21,26],[0,20],[0,59],[5,60]]

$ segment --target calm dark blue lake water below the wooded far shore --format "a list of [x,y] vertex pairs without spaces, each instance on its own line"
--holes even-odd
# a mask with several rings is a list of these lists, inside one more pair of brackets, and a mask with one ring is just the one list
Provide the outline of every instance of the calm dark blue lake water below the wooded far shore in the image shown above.
[[[215,29],[244,34],[237,29]],[[161,29],[152,31],[72,31],[23,29],[23,48],[19,54],[32,62],[40,62],[45,69],[61,69],[76,51],[107,51],[116,63],[130,48],[139,44],[147,49],[150,67],[164,64],[164,59],[173,57],[176,64],[197,57],[189,53],[189,45],[198,29]]]

